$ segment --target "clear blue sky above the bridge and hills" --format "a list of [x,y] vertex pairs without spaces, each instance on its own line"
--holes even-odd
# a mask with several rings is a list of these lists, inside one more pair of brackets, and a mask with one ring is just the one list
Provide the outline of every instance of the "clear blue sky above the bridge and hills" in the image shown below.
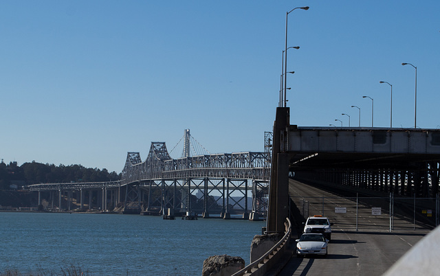
[[263,151],[298,126],[440,128],[440,1],[0,1],[0,158],[121,172],[126,152]]

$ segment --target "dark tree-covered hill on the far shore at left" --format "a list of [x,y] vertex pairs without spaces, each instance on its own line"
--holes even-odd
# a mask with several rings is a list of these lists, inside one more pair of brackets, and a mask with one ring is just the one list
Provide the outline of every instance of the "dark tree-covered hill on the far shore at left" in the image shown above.
[[107,169],[85,168],[82,165],[54,165],[32,161],[18,166],[17,162],[0,163],[0,189],[10,185],[37,183],[104,182],[118,181],[121,175]]

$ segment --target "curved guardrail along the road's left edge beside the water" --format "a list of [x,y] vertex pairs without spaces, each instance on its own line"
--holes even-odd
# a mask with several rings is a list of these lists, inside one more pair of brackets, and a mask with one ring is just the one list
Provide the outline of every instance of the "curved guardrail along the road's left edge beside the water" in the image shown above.
[[287,244],[290,242],[290,235],[292,233],[292,223],[290,223],[289,218],[286,218],[285,234],[281,240],[279,240],[265,255],[261,256],[258,260],[255,260],[241,271],[236,272],[232,276],[243,276],[243,275],[253,275],[260,276],[264,275],[269,271],[274,264],[280,261],[281,257],[285,253]]

